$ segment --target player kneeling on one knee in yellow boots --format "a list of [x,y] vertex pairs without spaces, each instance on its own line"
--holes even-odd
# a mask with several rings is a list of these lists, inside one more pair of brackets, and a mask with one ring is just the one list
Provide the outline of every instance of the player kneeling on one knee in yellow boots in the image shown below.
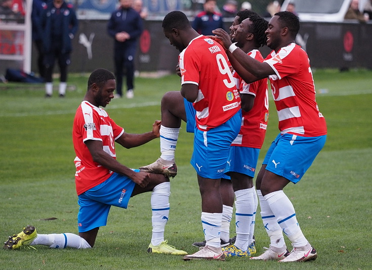
[[79,235],[71,233],[37,234],[27,226],[18,235],[9,237],[4,247],[17,249],[26,245],[47,245],[52,248],[91,248],[98,230],[106,226],[110,207],[127,208],[130,197],[152,191],[152,239],[148,252],[186,255],[164,240],[170,204],[169,178],[129,169],[116,160],[115,145],[132,148],[159,136],[160,121],[151,132],[129,134],[99,106],[106,107],[114,97],[115,77],[105,69],[93,71],[88,91],[79,105],[72,130],[76,173],[75,184],[80,206],[77,215]]

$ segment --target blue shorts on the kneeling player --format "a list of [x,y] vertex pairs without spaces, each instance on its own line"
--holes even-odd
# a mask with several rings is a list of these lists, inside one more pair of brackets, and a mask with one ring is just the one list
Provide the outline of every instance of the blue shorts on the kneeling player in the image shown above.
[[135,185],[130,178],[113,173],[105,182],[80,194],[77,200],[79,233],[106,226],[111,205],[127,208]]

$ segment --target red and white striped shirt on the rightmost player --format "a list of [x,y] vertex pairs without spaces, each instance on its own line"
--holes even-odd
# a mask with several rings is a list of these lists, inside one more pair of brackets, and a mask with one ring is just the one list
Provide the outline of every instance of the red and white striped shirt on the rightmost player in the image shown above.
[[315,101],[315,86],[307,53],[291,43],[265,61],[275,71],[270,75],[272,94],[281,134],[305,137],[325,135],[327,128]]

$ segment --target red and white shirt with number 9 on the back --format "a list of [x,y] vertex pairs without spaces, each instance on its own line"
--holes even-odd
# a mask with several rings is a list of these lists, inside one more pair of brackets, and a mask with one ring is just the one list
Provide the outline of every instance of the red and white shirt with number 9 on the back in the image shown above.
[[181,84],[196,84],[193,102],[196,126],[201,131],[222,125],[240,110],[240,96],[223,47],[198,36],[180,53]]

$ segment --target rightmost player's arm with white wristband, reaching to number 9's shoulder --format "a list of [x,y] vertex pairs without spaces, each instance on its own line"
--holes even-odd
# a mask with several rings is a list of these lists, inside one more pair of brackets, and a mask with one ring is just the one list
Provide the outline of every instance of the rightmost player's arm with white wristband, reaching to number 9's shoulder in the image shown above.
[[[230,47],[232,45],[232,42],[230,40],[229,34],[225,30],[218,28],[216,30],[213,30],[212,32],[216,36],[211,36],[211,38],[219,40],[219,43],[221,43],[226,50],[229,50],[231,52],[234,59],[253,76],[257,77],[258,79],[263,79],[268,77],[269,75],[275,74],[274,70],[270,67],[269,64],[265,62],[261,63],[260,61],[253,59],[252,57],[246,55],[244,51],[242,51],[235,45]],[[241,77],[243,78],[243,76]],[[246,82],[249,81],[250,80],[247,80]]]

